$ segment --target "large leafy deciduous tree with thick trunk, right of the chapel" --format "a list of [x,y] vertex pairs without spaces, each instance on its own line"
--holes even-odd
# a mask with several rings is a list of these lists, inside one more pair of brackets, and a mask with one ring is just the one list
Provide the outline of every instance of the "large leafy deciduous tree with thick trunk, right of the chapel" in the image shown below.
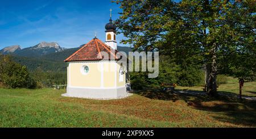
[[178,64],[204,64],[207,94],[217,94],[218,69],[237,75],[254,73],[255,67],[249,64],[255,66],[256,62],[255,1],[115,2],[122,9],[117,20],[119,33],[127,37],[122,43],[133,44],[135,49],[158,48]]

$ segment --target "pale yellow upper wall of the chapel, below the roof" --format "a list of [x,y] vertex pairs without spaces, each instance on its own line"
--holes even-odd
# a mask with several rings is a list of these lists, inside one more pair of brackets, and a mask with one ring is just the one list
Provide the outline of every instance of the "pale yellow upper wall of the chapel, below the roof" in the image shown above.
[[[81,72],[84,65],[89,67],[89,73],[86,75]],[[104,69],[103,73],[101,73],[101,68]],[[104,88],[125,86],[125,74],[123,81],[119,82],[120,68],[121,66],[116,62],[71,62],[68,65],[68,86]]]

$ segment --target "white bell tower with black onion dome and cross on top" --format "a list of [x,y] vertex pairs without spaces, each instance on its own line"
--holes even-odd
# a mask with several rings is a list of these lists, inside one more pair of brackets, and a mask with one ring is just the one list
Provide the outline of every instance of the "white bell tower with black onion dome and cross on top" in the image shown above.
[[109,19],[109,23],[106,24],[105,26],[106,29],[106,41],[105,44],[109,45],[109,47],[111,47],[112,49],[117,49],[117,41],[115,40],[116,38],[116,29],[117,26],[115,26],[115,24],[112,21],[112,9],[110,9],[110,19]]

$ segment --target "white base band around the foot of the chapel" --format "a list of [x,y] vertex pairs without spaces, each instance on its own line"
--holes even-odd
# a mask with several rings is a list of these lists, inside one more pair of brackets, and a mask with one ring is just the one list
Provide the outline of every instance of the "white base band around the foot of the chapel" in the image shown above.
[[110,89],[93,89],[84,87],[67,87],[67,93],[62,96],[87,99],[121,99],[130,96],[126,92],[126,87],[117,87]]

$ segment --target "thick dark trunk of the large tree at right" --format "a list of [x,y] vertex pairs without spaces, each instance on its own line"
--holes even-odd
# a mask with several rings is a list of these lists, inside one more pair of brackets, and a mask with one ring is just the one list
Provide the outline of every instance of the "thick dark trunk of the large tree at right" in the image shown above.
[[216,44],[213,44],[213,48],[210,49],[211,61],[206,64],[206,91],[210,96],[217,94],[217,56],[216,56]]

